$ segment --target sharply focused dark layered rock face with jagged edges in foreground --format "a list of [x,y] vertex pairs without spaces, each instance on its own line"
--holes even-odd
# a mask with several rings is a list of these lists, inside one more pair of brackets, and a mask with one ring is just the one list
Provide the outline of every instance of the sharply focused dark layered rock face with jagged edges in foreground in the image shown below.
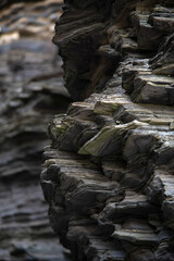
[[41,186],[74,260],[174,260],[173,25],[173,0],[65,1],[76,102],[49,125]]

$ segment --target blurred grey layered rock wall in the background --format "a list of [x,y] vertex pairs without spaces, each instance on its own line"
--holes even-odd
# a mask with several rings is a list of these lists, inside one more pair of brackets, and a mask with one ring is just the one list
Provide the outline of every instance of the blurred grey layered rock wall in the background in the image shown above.
[[0,10],[0,260],[63,261],[39,184],[47,125],[70,103],[51,44],[62,3],[7,2]]

